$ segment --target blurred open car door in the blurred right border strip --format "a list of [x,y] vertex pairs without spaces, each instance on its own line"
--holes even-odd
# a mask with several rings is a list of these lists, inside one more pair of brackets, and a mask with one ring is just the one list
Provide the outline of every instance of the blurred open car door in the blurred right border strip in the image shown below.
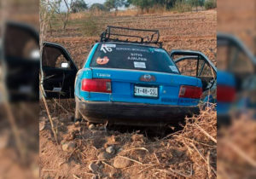
[[[255,78],[255,56],[241,40],[230,34],[218,33],[217,44],[218,70],[234,76],[236,78],[236,90],[243,90],[243,82],[253,76]],[[220,84],[219,82],[218,84]]]

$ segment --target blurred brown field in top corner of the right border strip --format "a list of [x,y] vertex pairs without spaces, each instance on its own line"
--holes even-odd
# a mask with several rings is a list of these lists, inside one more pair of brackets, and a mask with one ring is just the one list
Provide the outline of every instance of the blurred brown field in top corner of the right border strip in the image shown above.
[[255,54],[255,1],[218,1],[218,32],[230,33],[240,38]]

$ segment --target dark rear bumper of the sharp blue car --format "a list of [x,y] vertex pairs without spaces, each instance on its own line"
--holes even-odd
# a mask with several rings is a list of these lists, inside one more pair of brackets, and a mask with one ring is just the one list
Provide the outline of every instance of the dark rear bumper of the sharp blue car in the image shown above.
[[91,123],[154,126],[177,124],[199,113],[199,107],[149,105],[141,103],[80,101],[79,112]]

